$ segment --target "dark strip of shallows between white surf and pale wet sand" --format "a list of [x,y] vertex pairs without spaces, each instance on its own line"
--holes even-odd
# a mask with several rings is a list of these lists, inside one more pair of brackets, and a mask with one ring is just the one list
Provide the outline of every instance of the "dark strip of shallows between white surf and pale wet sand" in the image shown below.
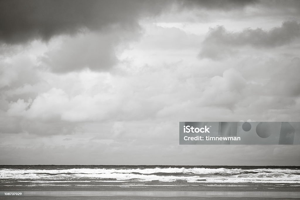
[[[70,184],[0,183],[0,191],[191,191],[191,192],[298,192],[300,184],[209,184],[162,182],[91,182]],[[17,185],[16,185],[17,184]]]

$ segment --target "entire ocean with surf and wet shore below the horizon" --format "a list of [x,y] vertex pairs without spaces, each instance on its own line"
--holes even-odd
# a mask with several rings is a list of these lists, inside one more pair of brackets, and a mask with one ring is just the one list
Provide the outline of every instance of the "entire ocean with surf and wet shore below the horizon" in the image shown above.
[[2,165],[0,191],[0,199],[300,199],[300,168]]

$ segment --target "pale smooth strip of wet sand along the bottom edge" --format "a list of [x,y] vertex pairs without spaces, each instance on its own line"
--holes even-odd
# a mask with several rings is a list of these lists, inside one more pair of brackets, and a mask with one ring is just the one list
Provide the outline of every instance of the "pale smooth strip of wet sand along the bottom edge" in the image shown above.
[[[97,197],[106,199],[299,199],[300,192],[221,192],[221,191],[25,191],[21,196],[4,196],[0,199],[84,199]],[[76,197],[76,198],[74,198]]]

